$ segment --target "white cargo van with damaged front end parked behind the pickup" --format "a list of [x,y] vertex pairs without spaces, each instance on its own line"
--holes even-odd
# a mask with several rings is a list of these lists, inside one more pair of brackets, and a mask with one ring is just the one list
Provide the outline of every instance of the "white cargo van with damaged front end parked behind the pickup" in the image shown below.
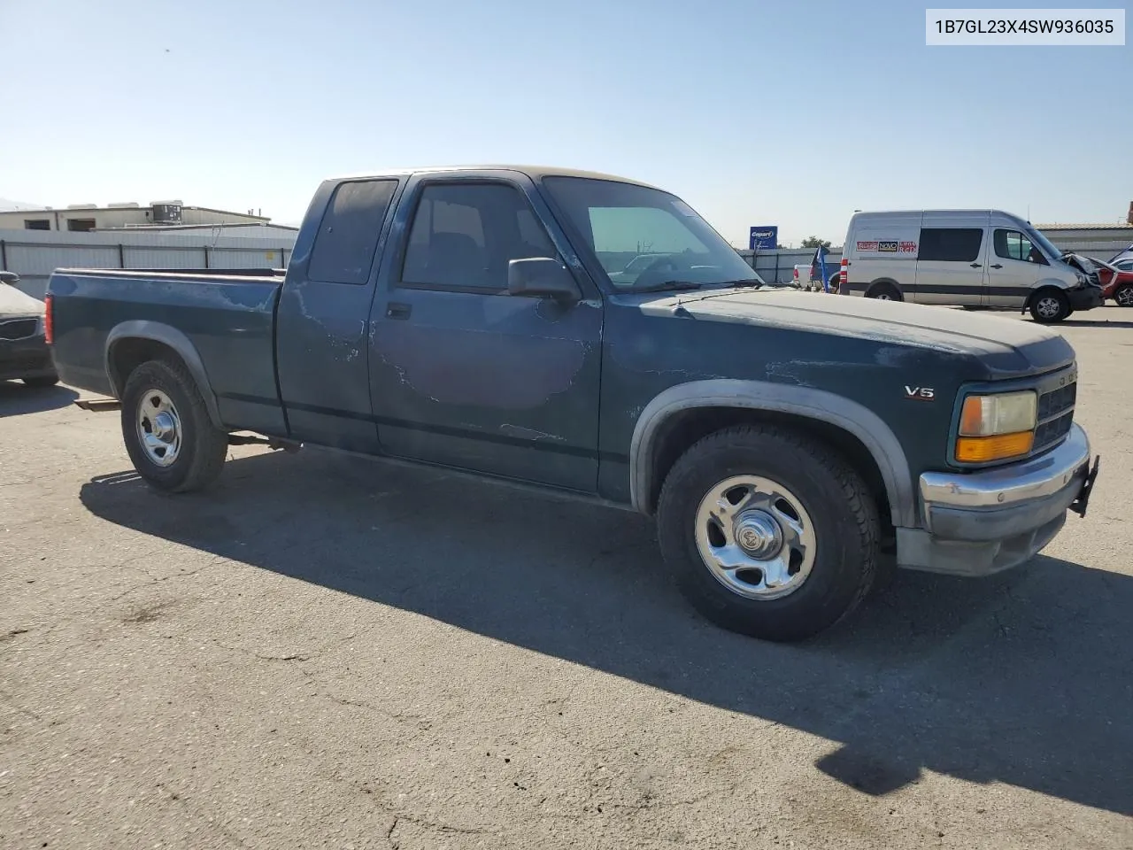
[[998,210],[860,212],[842,252],[842,295],[1030,309],[1060,322],[1102,304],[1097,271]]

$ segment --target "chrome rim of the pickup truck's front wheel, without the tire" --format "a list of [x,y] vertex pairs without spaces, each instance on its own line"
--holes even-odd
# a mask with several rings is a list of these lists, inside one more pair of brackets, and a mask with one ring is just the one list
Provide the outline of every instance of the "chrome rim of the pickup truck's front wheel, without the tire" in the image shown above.
[[802,502],[769,478],[721,482],[697,509],[697,549],[724,587],[749,600],[798,590],[815,566],[815,526]]

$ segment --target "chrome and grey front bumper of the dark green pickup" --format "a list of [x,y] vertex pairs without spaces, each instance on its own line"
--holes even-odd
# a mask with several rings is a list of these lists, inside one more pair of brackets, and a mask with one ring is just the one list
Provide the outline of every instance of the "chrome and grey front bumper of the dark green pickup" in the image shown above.
[[897,563],[960,576],[1020,564],[1054,539],[1072,505],[1084,513],[1094,475],[1090,441],[1076,424],[1060,445],[1031,460],[980,473],[925,473],[923,528],[897,529]]

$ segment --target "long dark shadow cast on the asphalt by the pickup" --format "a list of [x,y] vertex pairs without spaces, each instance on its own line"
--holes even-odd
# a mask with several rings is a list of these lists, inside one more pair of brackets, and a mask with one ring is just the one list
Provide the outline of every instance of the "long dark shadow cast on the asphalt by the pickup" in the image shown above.
[[155,504],[129,471],[80,499],[145,534],[836,741],[816,768],[863,793],[929,770],[1133,815],[1124,575],[1042,556],[983,580],[902,572],[786,646],[693,614],[645,518],[442,470],[257,454],[208,493]]

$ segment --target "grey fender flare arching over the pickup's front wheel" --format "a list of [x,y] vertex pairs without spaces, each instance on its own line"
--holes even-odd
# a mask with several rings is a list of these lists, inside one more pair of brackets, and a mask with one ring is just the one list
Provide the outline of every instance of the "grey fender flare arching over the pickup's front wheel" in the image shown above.
[[739,407],[794,414],[853,434],[881,473],[893,524],[905,528],[920,525],[905,451],[877,414],[857,401],[825,390],[732,379],[691,381],[671,386],[641,411],[630,443],[630,499],[636,510],[648,512],[654,476],[653,451],[661,426],[670,416],[693,407]]

